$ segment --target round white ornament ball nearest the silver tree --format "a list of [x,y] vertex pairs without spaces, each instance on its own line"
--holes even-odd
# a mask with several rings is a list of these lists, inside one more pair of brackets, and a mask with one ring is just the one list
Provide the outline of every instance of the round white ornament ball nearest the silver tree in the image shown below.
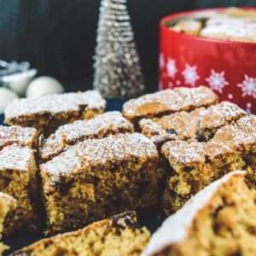
[[28,84],[26,96],[44,96],[50,94],[61,94],[63,92],[63,85],[58,80],[51,77],[39,77]]

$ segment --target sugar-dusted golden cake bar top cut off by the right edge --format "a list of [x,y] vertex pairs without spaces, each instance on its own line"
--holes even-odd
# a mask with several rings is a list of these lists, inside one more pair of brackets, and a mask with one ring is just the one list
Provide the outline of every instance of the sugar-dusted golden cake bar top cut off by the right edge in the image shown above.
[[256,145],[256,115],[249,115],[219,129],[212,142],[232,143],[237,147]]

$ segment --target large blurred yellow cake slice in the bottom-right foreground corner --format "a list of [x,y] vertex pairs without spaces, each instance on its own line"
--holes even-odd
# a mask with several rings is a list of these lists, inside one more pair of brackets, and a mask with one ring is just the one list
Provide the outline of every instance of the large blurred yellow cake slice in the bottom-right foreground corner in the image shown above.
[[143,256],[256,255],[256,192],[236,171],[211,183],[157,230]]

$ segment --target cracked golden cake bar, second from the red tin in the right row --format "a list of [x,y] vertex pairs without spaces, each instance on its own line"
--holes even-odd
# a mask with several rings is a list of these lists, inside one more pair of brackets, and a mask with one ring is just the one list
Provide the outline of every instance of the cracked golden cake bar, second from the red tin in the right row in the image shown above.
[[159,119],[142,119],[143,135],[156,144],[172,139],[208,141],[224,125],[244,117],[246,112],[231,102],[221,102],[209,108],[178,112]]

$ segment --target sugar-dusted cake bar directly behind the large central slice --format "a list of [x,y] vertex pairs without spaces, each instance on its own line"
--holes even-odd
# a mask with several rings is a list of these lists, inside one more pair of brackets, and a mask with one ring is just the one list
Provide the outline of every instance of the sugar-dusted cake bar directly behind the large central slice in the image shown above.
[[110,135],[133,132],[133,125],[118,111],[97,115],[90,120],[79,120],[60,126],[50,135],[40,148],[41,160],[52,159],[71,145],[86,139],[108,137]]

